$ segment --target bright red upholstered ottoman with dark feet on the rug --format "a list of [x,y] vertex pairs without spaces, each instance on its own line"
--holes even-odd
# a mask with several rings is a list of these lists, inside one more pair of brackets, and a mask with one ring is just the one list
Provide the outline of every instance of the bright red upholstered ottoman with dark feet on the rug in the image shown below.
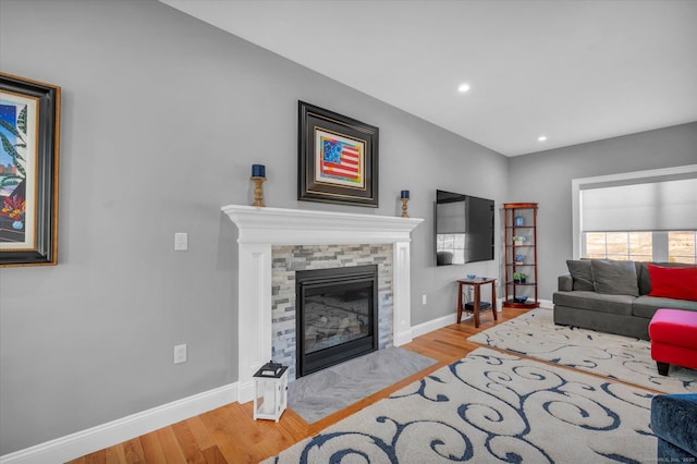
[[649,322],[651,359],[668,376],[670,364],[697,369],[697,312],[658,309]]

